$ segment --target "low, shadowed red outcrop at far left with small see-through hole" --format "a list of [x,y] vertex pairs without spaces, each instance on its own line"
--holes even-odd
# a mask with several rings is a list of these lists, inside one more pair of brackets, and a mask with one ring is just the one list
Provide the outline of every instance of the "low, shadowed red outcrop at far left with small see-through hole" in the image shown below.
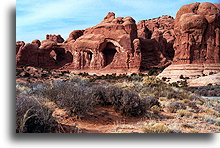
[[[68,53],[52,39],[33,40],[32,43],[16,43],[17,66],[36,66],[42,68],[59,68],[68,63]],[[71,62],[71,61],[69,61]]]

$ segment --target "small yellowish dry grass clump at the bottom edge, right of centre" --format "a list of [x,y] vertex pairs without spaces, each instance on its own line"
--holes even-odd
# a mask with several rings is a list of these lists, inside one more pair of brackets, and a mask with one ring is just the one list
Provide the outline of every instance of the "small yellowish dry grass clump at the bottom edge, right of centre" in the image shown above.
[[173,131],[164,123],[146,124],[143,126],[145,133],[172,133]]

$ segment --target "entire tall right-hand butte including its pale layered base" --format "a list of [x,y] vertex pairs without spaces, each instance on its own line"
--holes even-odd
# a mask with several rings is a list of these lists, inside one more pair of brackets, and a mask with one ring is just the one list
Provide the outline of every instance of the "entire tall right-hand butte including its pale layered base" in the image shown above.
[[184,5],[176,14],[174,33],[173,64],[159,77],[178,81],[180,75],[196,79],[220,72],[219,4],[205,2]]

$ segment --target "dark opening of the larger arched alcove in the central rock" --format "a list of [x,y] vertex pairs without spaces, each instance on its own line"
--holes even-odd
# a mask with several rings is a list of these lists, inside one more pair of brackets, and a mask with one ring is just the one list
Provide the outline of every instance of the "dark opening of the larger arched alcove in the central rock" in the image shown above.
[[114,56],[117,52],[116,48],[117,47],[113,43],[107,42],[105,48],[102,50],[104,58],[104,67],[112,63]]

